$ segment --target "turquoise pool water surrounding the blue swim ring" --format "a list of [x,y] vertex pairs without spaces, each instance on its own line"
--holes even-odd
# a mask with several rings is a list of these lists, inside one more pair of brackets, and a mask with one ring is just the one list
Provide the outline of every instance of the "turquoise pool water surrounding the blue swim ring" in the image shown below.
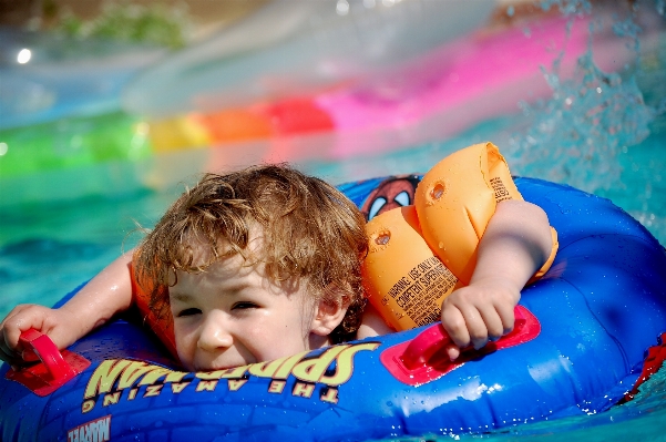
[[[546,70],[551,80],[560,80],[556,70]],[[522,104],[521,112],[481,122],[445,141],[298,166],[332,183],[423,172],[460,147],[490,140],[501,147],[514,174],[568,183],[611,198],[666,244],[665,78],[663,33],[656,48],[623,72],[595,72],[593,62],[583,60],[574,79],[552,81],[550,100]],[[582,94],[582,86],[596,94]],[[603,88],[601,93],[597,88]],[[567,102],[571,96],[576,99],[573,103]],[[0,317],[20,302],[51,305],[94,276],[133,247],[141,238],[139,226],[155,223],[180,192],[136,188],[117,197],[1,207]],[[634,401],[604,413],[484,435],[404,440],[666,441],[664,422],[666,369],[644,384]]]

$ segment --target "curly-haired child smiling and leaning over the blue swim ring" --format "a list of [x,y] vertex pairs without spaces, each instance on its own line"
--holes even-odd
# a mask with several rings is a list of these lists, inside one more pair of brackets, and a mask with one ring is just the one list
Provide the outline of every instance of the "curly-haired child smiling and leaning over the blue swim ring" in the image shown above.
[[[363,225],[340,192],[286,166],[206,175],[136,251],[63,307],[14,308],[0,325],[0,358],[21,364],[19,336],[30,328],[59,348],[72,345],[130,308],[134,278],[157,317],[173,313],[175,349],[187,370],[268,361],[389,332],[372,308],[362,313]],[[481,348],[512,329],[520,290],[550,251],[541,208],[520,201],[498,205],[470,285],[442,305],[451,359],[459,348]]]

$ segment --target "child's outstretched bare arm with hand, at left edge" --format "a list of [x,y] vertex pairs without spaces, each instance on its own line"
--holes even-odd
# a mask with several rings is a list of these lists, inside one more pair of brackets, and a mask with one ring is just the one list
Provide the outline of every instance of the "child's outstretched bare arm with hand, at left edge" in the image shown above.
[[129,265],[133,250],[114,260],[58,309],[38,305],[16,307],[0,323],[0,359],[21,364],[21,332],[34,328],[49,335],[59,349],[74,343],[132,304]]

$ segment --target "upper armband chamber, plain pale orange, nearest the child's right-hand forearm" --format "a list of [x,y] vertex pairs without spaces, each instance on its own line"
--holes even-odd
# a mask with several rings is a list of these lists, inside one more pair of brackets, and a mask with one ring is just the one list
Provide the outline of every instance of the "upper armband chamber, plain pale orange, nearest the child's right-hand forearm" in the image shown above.
[[414,205],[423,238],[463,282],[477,265],[477,247],[496,203],[523,199],[504,157],[492,143],[474,144],[439,162],[423,176]]

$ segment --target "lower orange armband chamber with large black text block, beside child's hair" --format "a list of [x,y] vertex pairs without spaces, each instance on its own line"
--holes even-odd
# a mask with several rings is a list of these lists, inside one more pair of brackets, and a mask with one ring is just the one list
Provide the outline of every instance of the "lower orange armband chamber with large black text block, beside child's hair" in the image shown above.
[[370,304],[396,330],[439,320],[458,279],[421,236],[414,206],[393,208],[366,226],[369,250],[362,273]]

